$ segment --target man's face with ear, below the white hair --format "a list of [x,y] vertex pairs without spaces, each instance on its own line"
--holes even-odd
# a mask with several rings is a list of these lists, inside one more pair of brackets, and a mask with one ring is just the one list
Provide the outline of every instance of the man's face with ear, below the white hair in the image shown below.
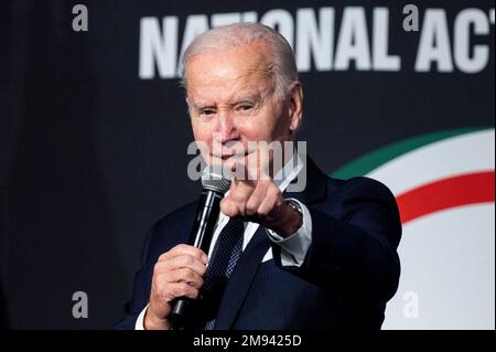
[[239,150],[246,162],[256,152],[249,141],[292,140],[301,119],[301,87],[296,84],[285,100],[278,97],[268,57],[266,45],[254,43],[190,58],[187,104],[195,141],[208,147],[207,163],[233,161]]

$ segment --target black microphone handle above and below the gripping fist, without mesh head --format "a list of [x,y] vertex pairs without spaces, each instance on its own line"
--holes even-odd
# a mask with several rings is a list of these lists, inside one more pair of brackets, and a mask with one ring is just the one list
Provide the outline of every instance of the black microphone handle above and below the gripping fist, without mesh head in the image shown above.
[[[214,227],[220,213],[220,201],[224,194],[218,191],[203,189],[200,195],[198,207],[190,235],[190,244],[203,252],[208,253],[211,248]],[[191,317],[192,299],[180,297],[173,301],[169,316],[172,330],[186,330],[188,317]]]

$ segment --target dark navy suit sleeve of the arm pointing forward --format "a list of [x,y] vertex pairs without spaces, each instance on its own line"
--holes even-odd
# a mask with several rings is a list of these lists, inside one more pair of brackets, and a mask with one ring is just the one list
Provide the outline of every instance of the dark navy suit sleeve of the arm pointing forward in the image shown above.
[[359,178],[336,192],[333,204],[309,206],[312,244],[290,270],[335,295],[384,303],[396,292],[401,223],[396,200],[381,183]]

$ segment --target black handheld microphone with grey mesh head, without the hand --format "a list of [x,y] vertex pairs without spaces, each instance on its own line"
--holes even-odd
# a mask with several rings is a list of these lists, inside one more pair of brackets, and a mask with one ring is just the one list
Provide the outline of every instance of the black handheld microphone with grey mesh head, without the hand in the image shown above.
[[[190,234],[190,245],[201,248],[208,254],[214,226],[220,213],[220,201],[224,194],[229,190],[233,174],[220,166],[211,166],[202,172],[203,190],[200,194],[198,207]],[[173,330],[185,330],[192,314],[192,300],[187,297],[181,297],[173,301],[172,310],[169,316]]]

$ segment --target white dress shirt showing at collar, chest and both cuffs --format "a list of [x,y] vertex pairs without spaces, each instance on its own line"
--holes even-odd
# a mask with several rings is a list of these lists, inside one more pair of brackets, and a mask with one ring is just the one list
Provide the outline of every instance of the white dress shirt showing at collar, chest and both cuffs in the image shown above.
[[[296,163],[294,162],[294,158],[296,158]],[[284,168],[279,170],[279,172],[273,178],[273,182],[279,186],[279,190],[281,192],[284,192],[284,190],[288,188],[288,185],[293,181],[296,175],[301,172],[303,169],[303,162],[298,157],[298,153],[293,153],[293,157],[289,160],[289,162],[285,163]],[[228,192],[226,193],[226,195]],[[302,217],[303,222],[301,227],[291,236],[289,237],[282,237],[278,235],[272,230],[266,228],[266,233],[270,241],[276,243],[281,248],[281,264],[283,266],[301,266],[303,263],[303,259],[306,255],[306,252],[309,250],[309,247],[312,243],[312,217],[310,215],[309,209],[301,203],[300,201],[295,199],[291,199],[300,204],[300,207],[302,210]],[[214,250],[215,243],[217,242],[217,238],[224,228],[224,226],[229,221],[229,217],[224,215],[223,213],[219,214],[217,224],[214,228],[214,236],[212,238],[211,248],[208,250],[208,257],[212,255],[212,252]],[[244,233],[244,241],[242,241],[242,250],[245,250],[248,243],[251,241],[251,237],[255,235],[255,233],[258,230],[259,224],[252,223],[252,222],[246,222],[245,223],[245,233]],[[272,259],[272,248],[269,248],[269,250],[263,256],[262,263],[268,262]],[[144,313],[147,312],[147,307],[141,311],[141,313],[138,316],[138,319],[136,321],[136,330],[144,330]]]

